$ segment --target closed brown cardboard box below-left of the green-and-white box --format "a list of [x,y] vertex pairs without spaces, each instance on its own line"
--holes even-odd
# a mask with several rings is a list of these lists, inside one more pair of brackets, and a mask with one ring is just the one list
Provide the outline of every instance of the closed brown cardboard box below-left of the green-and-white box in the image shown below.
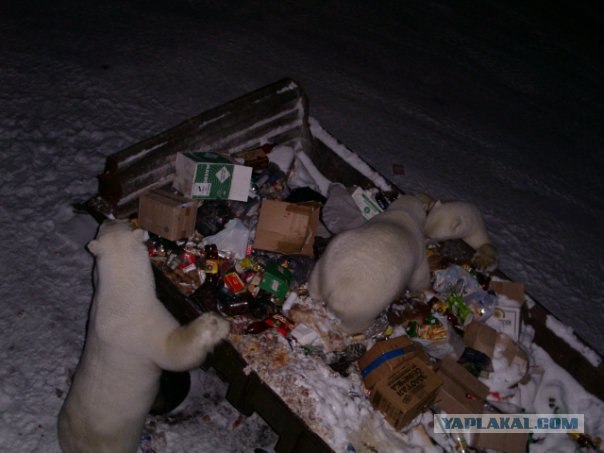
[[141,228],[176,241],[195,231],[198,201],[166,190],[150,190],[139,198],[138,221]]

